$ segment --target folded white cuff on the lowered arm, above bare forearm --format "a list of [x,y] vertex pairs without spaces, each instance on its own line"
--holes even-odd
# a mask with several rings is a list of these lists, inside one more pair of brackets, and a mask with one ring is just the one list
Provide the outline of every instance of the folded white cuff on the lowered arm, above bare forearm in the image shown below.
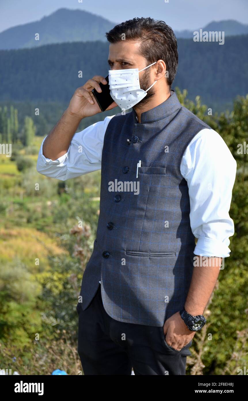
[[206,257],[229,257],[231,250],[226,244],[216,239],[200,237],[197,241],[194,254]]

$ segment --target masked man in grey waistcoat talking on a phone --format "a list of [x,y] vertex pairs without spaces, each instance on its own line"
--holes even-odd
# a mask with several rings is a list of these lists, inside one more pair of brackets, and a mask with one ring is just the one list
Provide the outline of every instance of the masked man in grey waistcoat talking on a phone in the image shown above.
[[135,375],[185,375],[218,258],[230,252],[236,162],[171,91],[177,43],[165,22],[134,18],[106,36],[115,99],[108,109],[122,112],[75,134],[81,119],[101,111],[91,91],[106,81],[89,79],[44,138],[37,162],[38,172],[59,180],[101,168],[97,236],[77,305],[78,352],[85,375],[130,375],[132,367]]

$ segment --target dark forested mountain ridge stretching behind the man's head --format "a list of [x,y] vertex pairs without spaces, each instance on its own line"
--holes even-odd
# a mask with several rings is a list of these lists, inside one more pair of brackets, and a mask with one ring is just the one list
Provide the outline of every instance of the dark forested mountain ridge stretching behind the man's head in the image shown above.
[[[213,108],[248,93],[248,35],[217,42],[178,39],[179,66],[173,87],[188,90]],[[68,103],[87,79],[106,76],[109,44],[62,43],[34,49],[0,51],[0,101]],[[78,77],[79,71],[83,78]]]

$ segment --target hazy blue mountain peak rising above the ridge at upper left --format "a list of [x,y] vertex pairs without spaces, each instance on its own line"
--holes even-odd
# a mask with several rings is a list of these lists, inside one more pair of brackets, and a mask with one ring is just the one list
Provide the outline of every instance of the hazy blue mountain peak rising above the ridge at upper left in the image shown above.
[[[51,43],[105,41],[105,32],[115,26],[105,18],[82,10],[60,8],[29,24],[14,26],[0,33],[0,49],[22,49]],[[39,40],[35,40],[35,34]]]

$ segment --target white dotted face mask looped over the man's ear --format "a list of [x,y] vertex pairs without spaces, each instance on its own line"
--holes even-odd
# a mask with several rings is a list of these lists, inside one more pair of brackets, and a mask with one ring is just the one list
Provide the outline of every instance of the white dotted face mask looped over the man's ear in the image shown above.
[[[140,71],[143,71],[156,63],[157,61],[147,65],[147,67]],[[149,91],[149,89],[151,89],[151,87],[157,82],[153,82],[153,84],[146,91],[144,91],[141,89],[139,84],[140,71],[138,68],[113,71],[109,70],[110,95],[121,109],[131,109],[131,107],[133,107],[147,95],[147,91]]]

